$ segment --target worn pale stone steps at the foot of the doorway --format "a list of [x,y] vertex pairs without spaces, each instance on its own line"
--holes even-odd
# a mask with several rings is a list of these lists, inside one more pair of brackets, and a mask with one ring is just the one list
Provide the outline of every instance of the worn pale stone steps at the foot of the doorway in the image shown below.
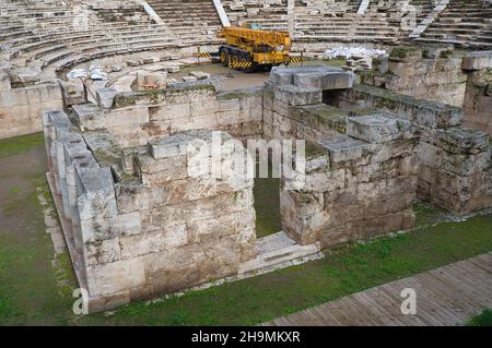
[[300,245],[283,231],[259,238],[256,242],[258,255],[255,260],[239,264],[238,274],[260,272],[302,259],[323,257],[318,244]]

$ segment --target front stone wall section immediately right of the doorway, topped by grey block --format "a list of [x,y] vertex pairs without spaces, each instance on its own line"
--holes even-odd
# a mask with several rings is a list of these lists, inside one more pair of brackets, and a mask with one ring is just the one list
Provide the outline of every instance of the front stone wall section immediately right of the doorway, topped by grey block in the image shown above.
[[351,117],[347,135],[309,143],[305,176],[282,181],[282,229],[328,248],[413,227],[418,142],[409,121],[378,113]]

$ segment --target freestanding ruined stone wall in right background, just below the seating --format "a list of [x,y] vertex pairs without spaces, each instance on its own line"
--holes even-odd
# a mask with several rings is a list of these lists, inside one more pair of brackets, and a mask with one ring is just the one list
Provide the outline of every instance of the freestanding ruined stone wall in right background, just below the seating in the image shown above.
[[363,84],[462,106],[467,74],[461,70],[461,57],[455,55],[453,45],[398,46],[390,52],[388,62],[377,59],[375,62],[375,70],[360,71]]

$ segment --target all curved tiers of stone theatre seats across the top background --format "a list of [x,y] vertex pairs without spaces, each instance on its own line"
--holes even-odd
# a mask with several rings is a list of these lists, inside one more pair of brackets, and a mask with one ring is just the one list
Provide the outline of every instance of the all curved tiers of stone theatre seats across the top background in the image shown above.
[[[233,24],[291,29],[294,41],[394,43],[410,33],[401,25],[401,0],[373,0],[363,15],[356,14],[361,0],[222,2]],[[106,56],[219,43],[221,23],[212,0],[149,3],[163,24],[152,21],[134,0],[0,0],[0,53],[21,65],[52,72]],[[410,1],[417,23],[434,3]],[[492,8],[482,3],[450,0],[419,40],[492,47]]]

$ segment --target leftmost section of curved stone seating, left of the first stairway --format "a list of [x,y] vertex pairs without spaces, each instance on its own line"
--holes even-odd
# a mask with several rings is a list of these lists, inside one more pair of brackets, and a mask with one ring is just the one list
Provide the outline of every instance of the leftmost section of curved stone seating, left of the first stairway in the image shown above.
[[134,1],[2,0],[0,45],[12,61],[57,71],[101,57],[192,45]]

